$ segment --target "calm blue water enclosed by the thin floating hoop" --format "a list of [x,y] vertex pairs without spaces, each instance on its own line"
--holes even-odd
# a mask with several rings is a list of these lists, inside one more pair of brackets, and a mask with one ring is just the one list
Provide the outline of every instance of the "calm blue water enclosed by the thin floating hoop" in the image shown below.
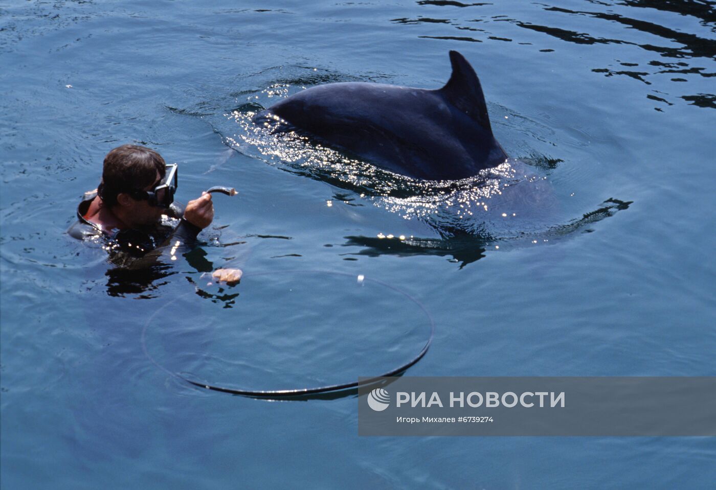
[[276,390],[386,373],[417,356],[430,324],[410,296],[372,278],[279,270],[245,275],[231,303],[195,293],[164,303],[142,342],[171,373]]

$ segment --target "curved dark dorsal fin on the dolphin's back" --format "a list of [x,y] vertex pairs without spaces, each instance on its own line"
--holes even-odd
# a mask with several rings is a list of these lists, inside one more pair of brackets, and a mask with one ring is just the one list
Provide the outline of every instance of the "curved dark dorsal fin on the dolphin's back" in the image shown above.
[[453,74],[450,75],[450,80],[439,92],[460,111],[468,114],[492,134],[488,107],[485,104],[485,95],[483,95],[483,87],[480,86],[478,75],[468,60],[457,51],[450,52],[450,63],[453,65]]

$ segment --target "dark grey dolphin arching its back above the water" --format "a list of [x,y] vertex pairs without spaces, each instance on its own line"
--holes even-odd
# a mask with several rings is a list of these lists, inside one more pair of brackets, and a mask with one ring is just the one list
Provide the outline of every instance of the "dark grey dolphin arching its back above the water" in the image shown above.
[[422,180],[457,180],[508,158],[495,139],[475,70],[451,51],[441,89],[365,82],[303,90],[253,116],[271,132],[296,132],[378,167]]

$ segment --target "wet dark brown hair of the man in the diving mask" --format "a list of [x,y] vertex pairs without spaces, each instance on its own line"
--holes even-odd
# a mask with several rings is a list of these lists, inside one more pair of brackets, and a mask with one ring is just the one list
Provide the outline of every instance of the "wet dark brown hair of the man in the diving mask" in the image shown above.
[[157,172],[164,177],[164,159],[157,152],[137,144],[122,144],[107,153],[102,169],[102,182],[97,194],[107,207],[117,205],[120,192],[142,190],[157,179]]

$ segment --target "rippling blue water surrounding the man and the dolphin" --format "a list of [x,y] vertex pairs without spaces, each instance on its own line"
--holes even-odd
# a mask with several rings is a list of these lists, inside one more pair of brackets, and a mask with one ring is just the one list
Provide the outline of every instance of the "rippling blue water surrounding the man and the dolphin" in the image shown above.
[[[715,376],[715,24],[698,0],[1,2],[0,486],[713,488],[713,438],[359,438],[354,396],[152,359],[369,376],[420,349],[420,303],[409,376]],[[537,179],[487,212],[244,124],[312,84],[440,87],[450,49]],[[179,163],[180,200],[240,192],[143,275],[64,235],[127,142]]]

